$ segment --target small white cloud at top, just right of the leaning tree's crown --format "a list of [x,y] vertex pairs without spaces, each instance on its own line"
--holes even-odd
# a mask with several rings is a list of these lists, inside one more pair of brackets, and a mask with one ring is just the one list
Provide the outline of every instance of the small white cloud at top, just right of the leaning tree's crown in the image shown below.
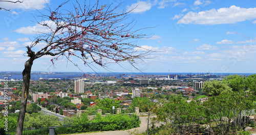
[[[127,11],[133,10],[133,13],[143,13],[147,10],[150,10],[151,7],[154,6],[154,4],[138,1],[135,4],[132,4],[131,6],[126,6]],[[135,8],[135,9],[134,9]]]

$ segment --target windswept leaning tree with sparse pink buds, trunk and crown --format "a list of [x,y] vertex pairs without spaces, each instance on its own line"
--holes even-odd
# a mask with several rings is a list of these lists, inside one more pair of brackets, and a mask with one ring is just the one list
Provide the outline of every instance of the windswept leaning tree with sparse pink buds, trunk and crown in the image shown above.
[[[67,2],[70,3],[70,2]],[[49,15],[41,14],[37,23],[46,27],[48,33],[39,33],[30,46],[27,46],[27,56],[23,71],[22,99],[16,134],[22,134],[26,113],[26,103],[29,93],[30,73],[33,61],[45,56],[52,56],[54,64],[59,58],[71,57],[81,59],[84,65],[92,68],[96,63],[107,68],[110,63],[127,61],[135,67],[137,60],[141,61],[151,54],[152,50],[136,45],[136,40],[146,35],[141,30],[133,30],[134,23],[125,22],[132,11],[119,11],[120,6],[101,5],[99,1],[91,5],[84,1],[73,3],[72,10],[66,10],[63,3],[55,10],[49,9]],[[45,44],[34,51],[38,44]],[[135,67],[136,68],[136,67]],[[136,68],[137,69],[137,68]]]

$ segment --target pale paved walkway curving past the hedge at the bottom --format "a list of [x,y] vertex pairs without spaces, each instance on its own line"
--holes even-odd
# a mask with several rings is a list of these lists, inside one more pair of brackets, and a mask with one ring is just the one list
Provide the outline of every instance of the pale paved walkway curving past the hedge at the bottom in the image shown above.
[[[156,117],[156,116],[153,116]],[[98,131],[98,132],[85,132],[85,133],[75,133],[70,135],[129,135],[130,132],[142,133],[146,131],[147,128],[147,116],[140,116],[140,127],[136,127],[129,130],[116,130],[116,131]]]

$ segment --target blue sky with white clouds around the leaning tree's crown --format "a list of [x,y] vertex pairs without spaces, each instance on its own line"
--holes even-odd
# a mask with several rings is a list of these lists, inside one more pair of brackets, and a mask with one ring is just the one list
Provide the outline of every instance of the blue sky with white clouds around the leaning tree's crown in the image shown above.
[[[80,1],[79,1],[80,2]],[[82,2],[82,1],[81,1]],[[93,0],[91,1],[94,2]],[[1,3],[10,11],[0,10],[0,71],[22,71],[28,57],[26,46],[45,29],[36,25],[33,15],[48,14],[60,1],[24,0],[22,4]],[[256,5],[254,1],[100,1],[116,6],[117,11],[137,8],[130,15],[134,29],[153,34],[139,39],[138,46],[157,51],[151,59],[137,64],[142,72],[210,72],[255,73],[256,67]],[[127,20],[129,21],[129,19]],[[43,46],[43,45],[42,45]],[[36,47],[39,49],[40,47]],[[50,57],[36,59],[32,71],[80,72],[67,59],[52,66]],[[92,72],[78,59],[73,59],[83,72]],[[126,62],[109,66],[112,72],[139,72]],[[106,72],[100,66],[92,67]]]

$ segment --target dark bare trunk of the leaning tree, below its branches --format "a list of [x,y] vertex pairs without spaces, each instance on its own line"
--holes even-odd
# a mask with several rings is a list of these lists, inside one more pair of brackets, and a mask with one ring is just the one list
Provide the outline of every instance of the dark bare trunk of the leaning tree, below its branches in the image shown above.
[[23,75],[22,99],[20,102],[16,135],[22,135],[22,131],[23,131],[23,122],[25,118],[27,100],[29,95],[29,83],[30,83],[30,73],[31,73],[32,64],[33,62],[30,59],[26,61],[25,69],[22,72],[22,75]]

